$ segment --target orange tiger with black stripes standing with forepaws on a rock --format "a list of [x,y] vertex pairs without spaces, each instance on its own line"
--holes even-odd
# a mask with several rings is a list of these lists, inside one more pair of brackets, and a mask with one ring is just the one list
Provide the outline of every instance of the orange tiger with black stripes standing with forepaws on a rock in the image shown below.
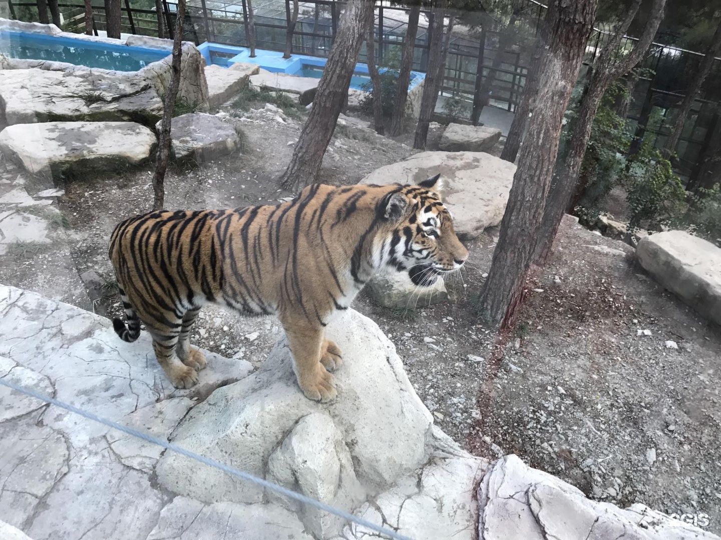
[[277,315],[298,386],[310,400],[337,396],[342,351],[324,327],[375,274],[407,272],[419,286],[463,266],[469,253],[439,194],[439,176],[417,185],[306,186],[275,205],[155,211],[120,222],[109,256],[127,325],[145,325],[170,382],[189,388],[205,368],[190,330],[208,303],[241,315]]

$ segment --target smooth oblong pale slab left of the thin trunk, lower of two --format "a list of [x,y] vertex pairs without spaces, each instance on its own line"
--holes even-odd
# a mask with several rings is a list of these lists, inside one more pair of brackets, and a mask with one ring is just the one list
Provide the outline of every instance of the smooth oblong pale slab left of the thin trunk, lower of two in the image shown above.
[[134,122],[16,124],[0,132],[0,152],[35,174],[140,165],[155,147],[155,133]]

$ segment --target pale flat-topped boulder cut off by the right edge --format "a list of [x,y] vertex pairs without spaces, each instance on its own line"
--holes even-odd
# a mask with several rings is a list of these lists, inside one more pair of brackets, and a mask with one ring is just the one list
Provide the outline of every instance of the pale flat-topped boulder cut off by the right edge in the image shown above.
[[641,238],[641,266],[705,318],[721,324],[721,249],[682,230]]

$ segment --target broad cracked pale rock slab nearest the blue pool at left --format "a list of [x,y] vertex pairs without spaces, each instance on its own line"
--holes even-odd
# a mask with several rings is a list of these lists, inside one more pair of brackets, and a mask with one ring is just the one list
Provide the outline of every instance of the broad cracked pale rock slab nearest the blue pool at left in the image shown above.
[[123,121],[155,125],[163,103],[138,76],[97,71],[0,70],[0,117],[5,123]]

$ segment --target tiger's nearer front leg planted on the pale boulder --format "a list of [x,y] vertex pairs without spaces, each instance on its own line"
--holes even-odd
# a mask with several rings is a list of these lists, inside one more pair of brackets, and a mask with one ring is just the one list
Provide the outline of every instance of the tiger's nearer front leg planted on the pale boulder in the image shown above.
[[[304,315],[299,318],[303,320]],[[315,328],[305,321],[298,323],[297,318],[288,315],[281,316],[280,320],[291,346],[293,371],[296,372],[298,386],[309,400],[334,400],[338,394],[335,377],[320,363],[324,345],[322,328]]]

